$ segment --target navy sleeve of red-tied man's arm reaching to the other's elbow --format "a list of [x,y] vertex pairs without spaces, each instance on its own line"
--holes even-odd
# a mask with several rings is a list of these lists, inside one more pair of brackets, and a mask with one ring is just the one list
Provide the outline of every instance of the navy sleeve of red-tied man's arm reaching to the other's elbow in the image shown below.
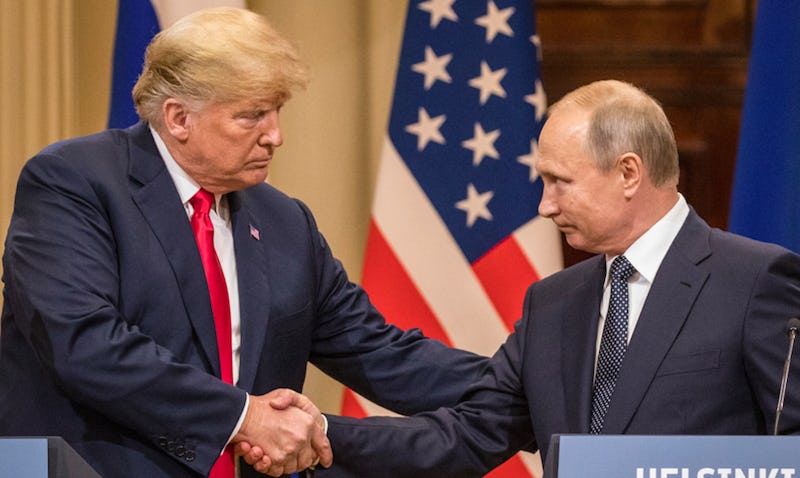
[[452,406],[487,359],[387,324],[366,292],[347,278],[303,207],[317,237],[317,327],[311,361],[367,399],[408,415]]

